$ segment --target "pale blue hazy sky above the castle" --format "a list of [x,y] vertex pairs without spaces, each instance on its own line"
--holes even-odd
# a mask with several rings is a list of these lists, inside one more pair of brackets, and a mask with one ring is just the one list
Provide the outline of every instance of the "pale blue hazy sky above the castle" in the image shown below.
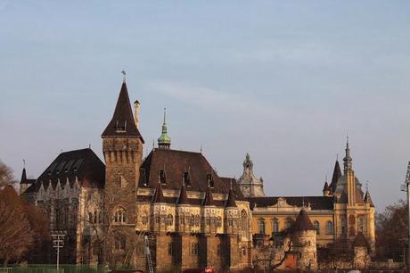
[[0,160],[102,158],[121,70],[145,154],[166,107],[171,147],[219,175],[250,153],[266,194],[321,195],[348,132],[376,210],[406,197],[409,1],[0,0]]

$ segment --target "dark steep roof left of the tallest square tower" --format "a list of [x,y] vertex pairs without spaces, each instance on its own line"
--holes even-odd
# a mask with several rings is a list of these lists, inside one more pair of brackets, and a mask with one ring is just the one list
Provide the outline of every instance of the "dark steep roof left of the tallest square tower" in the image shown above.
[[57,185],[58,180],[61,185],[65,185],[67,181],[72,185],[76,177],[80,186],[105,185],[105,165],[93,150],[86,148],[60,153],[25,193],[37,192],[42,183],[46,188],[49,181],[53,187]]

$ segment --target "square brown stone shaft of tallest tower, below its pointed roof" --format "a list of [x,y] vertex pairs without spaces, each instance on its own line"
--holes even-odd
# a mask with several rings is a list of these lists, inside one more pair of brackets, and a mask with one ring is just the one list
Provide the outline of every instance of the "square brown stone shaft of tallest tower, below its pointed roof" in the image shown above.
[[[126,237],[125,250],[115,251],[117,262],[125,261],[128,252],[135,249],[136,186],[143,156],[143,143],[137,136],[104,136],[102,152],[105,160],[104,204],[107,219],[114,219],[116,211],[126,211],[126,223],[115,224],[112,232]],[[115,238],[112,236],[113,241]],[[106,249],[108,257],[113,250],[113,242]],[[111,259],[114,259],[112,256]]]

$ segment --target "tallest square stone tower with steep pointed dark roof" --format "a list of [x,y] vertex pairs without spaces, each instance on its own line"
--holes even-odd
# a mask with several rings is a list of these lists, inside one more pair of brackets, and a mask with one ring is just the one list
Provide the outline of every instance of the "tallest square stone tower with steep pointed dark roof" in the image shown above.
[[112,236],[115,242],[111,245],[120,245],[119,252],[126,256],[135,247],[135,200],[143,136],[135,125],[125,79],[111,121],[102,132],[102,153],[106,166],[105,219],[119,231]]

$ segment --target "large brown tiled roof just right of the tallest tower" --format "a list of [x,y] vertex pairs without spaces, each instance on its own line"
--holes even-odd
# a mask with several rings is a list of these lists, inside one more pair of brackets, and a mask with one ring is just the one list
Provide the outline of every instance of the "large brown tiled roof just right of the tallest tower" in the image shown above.
[[[171,149],[152,149],[141,165],[139,187],[154,188],[159,180],[160,171],[165,173],[166,183],[163,189],[179,190],[184,173],[188,173],[189,183],[186,191],[206,192],[209,186],[209,175],[213,180],[213,193],[228,194],[232,178],[220,178],[202,153],[178,151]],[[234,180],[233,180],[234,182]],[[237,183],[233,184],[236,200],[244,200]]]

